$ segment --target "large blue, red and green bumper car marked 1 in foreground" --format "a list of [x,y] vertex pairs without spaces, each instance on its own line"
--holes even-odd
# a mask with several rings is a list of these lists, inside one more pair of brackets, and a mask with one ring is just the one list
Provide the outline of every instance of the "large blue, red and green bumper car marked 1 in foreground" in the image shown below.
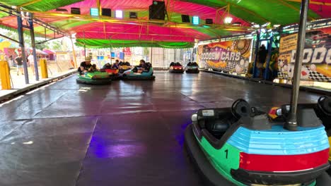
[[297,130],[286,130],[239,99],[193,114],[185,147],[210,185],[330,185],[329,143],[318,121],[304,109]]

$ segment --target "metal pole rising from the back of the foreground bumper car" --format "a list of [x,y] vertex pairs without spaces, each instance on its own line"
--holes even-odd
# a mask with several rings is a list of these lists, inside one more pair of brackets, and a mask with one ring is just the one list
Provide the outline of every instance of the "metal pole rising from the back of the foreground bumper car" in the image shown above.
[[298,93],[300,91],[301,67],[303,61],[303,48],[306,42],[306,23],[308,16],[309,0],[302,0],[300,11],[300,23],[298,28],[298,42],[296,44],[296,62],[294,63],[293,85],[291,92],[291,109],[284,128],[287,130],[297,130],[296,106],[298,104]]

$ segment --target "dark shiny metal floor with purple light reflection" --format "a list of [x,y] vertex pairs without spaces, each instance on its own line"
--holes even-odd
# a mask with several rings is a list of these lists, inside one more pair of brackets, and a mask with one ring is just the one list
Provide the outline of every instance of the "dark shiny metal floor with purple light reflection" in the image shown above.
[[110,86],[73,75],[0,107],[0,185],[202,185],[182,151],[190,115],[238,98],[266,109],[290,92],[209,73]]

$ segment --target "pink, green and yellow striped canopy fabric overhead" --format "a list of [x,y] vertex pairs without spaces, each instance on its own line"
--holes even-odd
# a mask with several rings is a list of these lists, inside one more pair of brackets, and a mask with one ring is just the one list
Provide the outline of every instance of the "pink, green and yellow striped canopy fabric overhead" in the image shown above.
[[[185,48],[193,46],[197,39],[252,32],[251,26],[255,24],[269,23],[272,27],[298,23],[301,1],[165,0],[165,20],[149,20],[152,0],[0,0],[0,4],[21,7],[35,18],[76,34],[81,46]],[[80,14],[71,14],[71,8],[80,8]],[[112,16],[91,16],[91,8],[99,12],[101,8],[110,8]],[[309,8],[309,20],[331,17],[331,3],[325,0],[312,0]],[[123,18],[115,18],[115,11],[122,11]],[[137,18],[129,18],[129,12],[136,12]],[[190,16],[191,23],[182,23],[182,15]],[[192,25],[192,16],[199,16],[199,25]],[[1,27],[17,28],[15,16],[1,12],[0,17]],[[226,17],[231,17],[233,24],[224,23]],[[213,24],[206,24],[206,19],[212,19]],[[38,25],[35,32],[54,36],[54,32]]]

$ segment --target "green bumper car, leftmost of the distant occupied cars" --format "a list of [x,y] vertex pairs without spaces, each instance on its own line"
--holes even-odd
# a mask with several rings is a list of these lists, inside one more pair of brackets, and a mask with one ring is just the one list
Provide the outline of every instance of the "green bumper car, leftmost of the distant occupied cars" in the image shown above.
[[93,71],[84,75],[78,73],[76,82],[87,85],[108,85],[112,82],[112,79],[110,75],[104,71]]

